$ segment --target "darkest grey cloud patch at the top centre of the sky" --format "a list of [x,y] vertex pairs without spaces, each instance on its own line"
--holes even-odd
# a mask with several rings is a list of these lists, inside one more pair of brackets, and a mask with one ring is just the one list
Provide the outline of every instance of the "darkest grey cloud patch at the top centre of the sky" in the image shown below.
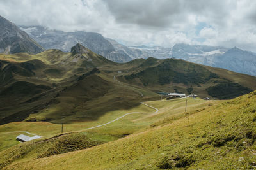
[[151,27],[168,27],[182,10],[180,1],[106,1],[117,22]]

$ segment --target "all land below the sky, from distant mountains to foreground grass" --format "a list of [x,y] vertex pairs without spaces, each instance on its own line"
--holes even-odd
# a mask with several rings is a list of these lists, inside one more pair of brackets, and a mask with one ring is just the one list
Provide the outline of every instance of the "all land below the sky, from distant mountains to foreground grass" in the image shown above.
[[0,169],[255,169],[255,53],[0,24]]

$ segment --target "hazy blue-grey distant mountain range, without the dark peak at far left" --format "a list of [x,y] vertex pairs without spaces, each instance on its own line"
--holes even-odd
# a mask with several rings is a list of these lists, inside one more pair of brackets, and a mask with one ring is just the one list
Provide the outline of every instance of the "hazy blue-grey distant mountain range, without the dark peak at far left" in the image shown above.
[[114,62],[129,62],[133,59],[177,58],[211,67],[220,67],[237,73],[256,76],[256,54],[237,47],[176,44],[172,48],[162,46],[125,46],[113,39],[104,38],[93,32],[63,32],[45,27],[20,26],[45,49],[56,48],[63,52],[81,43],[95,53],[99,53]]

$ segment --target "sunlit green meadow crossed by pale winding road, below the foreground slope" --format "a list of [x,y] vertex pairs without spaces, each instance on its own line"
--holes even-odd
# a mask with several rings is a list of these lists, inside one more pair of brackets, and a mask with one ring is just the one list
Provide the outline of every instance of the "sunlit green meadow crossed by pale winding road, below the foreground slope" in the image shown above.
[[[55,154],[60,154],[70,152],[70,149],[79,147],[74,146],[74,143],[79,143],[80,139],[75,138],[78,136],[83,136],[85,139],[90,141],[98,141],[100,143],[106,143],[108,141],[113,141],[118,138],[124,138],[128,134],[132,134],[136,131],[143,131],[151,125],[156,126],[156,122],[163,120],[165,117],[172,117],[173,120],[177,120],[180,117],[184,117],[184,99],[174,99],[174,100],[163,100],[163,101],[150,101],[147,104],[159,108],[157,114],[154,113],[152,108],[140,104],[136,108],[129,110],[118,110],[110,111],[109,113],[103,115],[98,120],[87,121],[87,122],[76,122],[72,124],[64,124],[64,132],[68,132],[61,136],[61,142],[66,143],[66,147],[55,145],[59,141],[61,125],[51,124],[49,122],[13,122],[10,124],[0,125],[0,165],[1,167],[7,166],[12,162],[24,162],[31,159],[38,159],[42,152],[47,152],[47,150],[52,150],[56,152],[51,152]],[[202,99],[188,99],[188,110],[195,111],[198,109],[205,108],[209,104],[217,104],[218,101],[204,101]],[[116,122],[105,125],[103,127],[98,127],[96,129],[86,130],[88,127],[93,127],[95,125],[105,124],[111,120],[114,120],[125,113],[140,112],[138,114],[129,115]],[[32,130],[33,129],[33,130]],[[36,139],[35,141],[30,141],[26,143],[21,143],[17,145],[15,143],[15,137],[21,132],[14,133],[13,131],[29,131],[34,134],[39,134],[43,136],[42,138]],[[74,131],[77,132],[74,134]],[[8,133],[13,132],[13,133]],[[7,133],[7,134],[6,134]],[[3,135],[2,135],[3,134]],[[26,134],[28,135],[28,134]],[[75,136],[74,136],[75,135]],[[14,146],[15,145],[15,146]],[[10,148],[10,146],[13,146]],[[79,145],[80,146],[80,145]],[[71,148],[70,148],[71,147]],[[8,149],[9,148],[9,149]],[[67,149],[65,149],[67,148]],[[61,152],[58,152],[61,151]],[[47,152],[49,153],[49,152]],[[12,156],[8,156],[12,155]],[[40,157],[48,157],[51,154],[46,154]]]

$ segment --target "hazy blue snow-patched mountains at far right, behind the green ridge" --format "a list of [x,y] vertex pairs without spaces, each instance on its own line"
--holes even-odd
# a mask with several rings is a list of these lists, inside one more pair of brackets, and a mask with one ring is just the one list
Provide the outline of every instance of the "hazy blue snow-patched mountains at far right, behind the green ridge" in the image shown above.
[[237,47],[177,44],[172,48],[172,57],[256,76],[255,53]]

